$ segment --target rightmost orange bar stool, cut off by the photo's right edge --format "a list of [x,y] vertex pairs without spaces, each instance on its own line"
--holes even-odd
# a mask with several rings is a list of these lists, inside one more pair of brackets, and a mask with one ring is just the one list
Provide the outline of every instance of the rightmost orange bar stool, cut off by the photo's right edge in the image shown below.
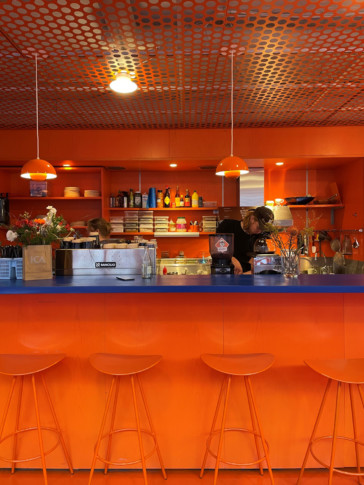
[[[311,453],[312,457],[323,467],[329,469],[329,484],[332,483],[333,473],[342,473],[344,475],[351,475],[358,477],[364,476],[364,472],[360,470],[360,462],[359,462],[359,445],[364,445],[358,441],[358,432],[357,432],[357,423],[356,423],[356,412],[354,407],[354,387],[357,388],[358,394],[360,397],[360,401],[362,406],[364,407],[364,399],[363,393],[360,388],[360,384],[364,384],[364,359],[333,359],[333,360],[307,360],[305,364],[311,367],[315,372],[321,374],[328,378],[328,382],[326,385],[326,389],[321,401],[321,405],[319,408],[319,412],[316,418],[315,425],[313,427],[312,435],[307,447],[307,451],[303,460],[302,468],[300,471],[300,475],[298,478],[298,484],[301,481],[303,472],[305,470],[305,466],[307,463],[307,459]],[[335,417],[334,417],[334,428],[332,432],[332,436],[320,436],[315,438],[317,428],[319,426],[321,416],[325,407],[325,403],[327,401],[328,392],[332,383],[336,381],[336,402],[335,402]],[[349,400],[350,400],[350,407],[351,407],[351,419],[352,419],[352,426],[353,426],[353,435],[354,438],[349,438],[346,436],[338,436],[338,419],[339,419],[339,407],[340,407],[340,399],[341,399],[341,392],[342,392],[342,384],[347,384],[349,387]],[[356,456],[356,472],[351,472],[347,470],[341,470],[339,468],[334,468],[335,463],[335,453],[336,453],[336,446],[337,440],[346,440],[352,441],[355,446],[355,456]],[[324,463],[320,458],[317,457],[316,453],[314,452],[314,444],[321,440],[331,440],[331,456],[330,456],[330,464]],[[360,481],[359,481],[360,483]]]

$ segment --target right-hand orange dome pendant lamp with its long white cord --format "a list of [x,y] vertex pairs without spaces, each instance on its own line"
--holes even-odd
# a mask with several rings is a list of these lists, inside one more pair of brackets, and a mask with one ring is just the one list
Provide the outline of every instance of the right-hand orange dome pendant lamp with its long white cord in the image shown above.
[[228,178],[237,178],[240,175],[249,173],[247,163],[240,157],[233,155],[234,151],[234,50],[231,50],[231,94],[230,94],[230,156],[225,157],[216,167],[216,175],[221,175]]

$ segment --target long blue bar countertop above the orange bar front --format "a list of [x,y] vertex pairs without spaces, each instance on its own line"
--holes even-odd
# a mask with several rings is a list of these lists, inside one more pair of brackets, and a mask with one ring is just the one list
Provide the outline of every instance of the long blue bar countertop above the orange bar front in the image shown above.
[[[122,277],[125,277],[122,275]],[[154,276],[131,281],[113,276],[57,276],[51,280],[0,280],[0,295],[66,293],[364,293],[364,275]]]

